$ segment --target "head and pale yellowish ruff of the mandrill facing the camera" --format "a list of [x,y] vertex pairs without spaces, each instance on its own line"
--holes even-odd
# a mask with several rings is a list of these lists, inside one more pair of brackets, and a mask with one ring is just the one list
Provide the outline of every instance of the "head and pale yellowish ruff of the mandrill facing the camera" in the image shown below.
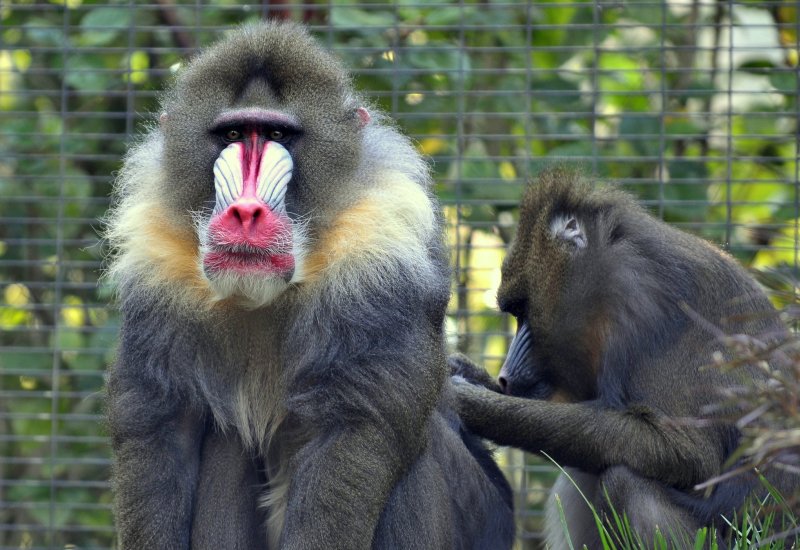
[[165,299],[190,309],[261,307],[312,279],[353,288],[345,276],[380,278],[356,266],[424,251],[428,184],[408,140],[372,119],[303,27],[242,27],[180,72],[128,155],[110,275],[170,286]]

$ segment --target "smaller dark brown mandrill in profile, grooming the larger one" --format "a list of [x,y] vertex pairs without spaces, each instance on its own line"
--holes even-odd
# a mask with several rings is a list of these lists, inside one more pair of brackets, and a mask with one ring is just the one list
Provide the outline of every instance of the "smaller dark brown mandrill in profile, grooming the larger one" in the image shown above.
[[[498,304],[518,324],[498,380],[451,358],[454,372],[473,382],[457,385],[467,428],[546,453],[601,515],[611,517],[612,507],[626,514],[646,547],[657,529],[682,541],[679,548],[692,547],[702,526],[724,533],[721,515],[730,517],[761,485],[739,476],[710,496],[694,490],[723,472],[739,435],[721,418],[705,425],[689,419],[721,399],[719,388],[764,373],[755,365],[704,367],[722,345],[697,319],[726,333],[785,333],[744,269],[629,196],[554,170],[524,196]],[[787,494],[797,484],[775,472],[768,477]],[[600,548],[573,481],[562,475],[554,489],[572,544]],[[568,547],[563,531],[551,498],[551,548]]]

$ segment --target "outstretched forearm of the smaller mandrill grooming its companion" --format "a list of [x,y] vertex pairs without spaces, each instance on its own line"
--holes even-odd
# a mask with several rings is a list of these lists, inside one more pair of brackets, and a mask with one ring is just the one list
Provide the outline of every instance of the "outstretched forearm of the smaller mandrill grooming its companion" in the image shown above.
[[722,449],[708,434],[646,407],[614,410],[595,401],[556,403],[455,385],[470,431],[499,445],[546,453],[561,466],[600,473],[625,465],[642,476],[690,488],[717,474],[722,463]]

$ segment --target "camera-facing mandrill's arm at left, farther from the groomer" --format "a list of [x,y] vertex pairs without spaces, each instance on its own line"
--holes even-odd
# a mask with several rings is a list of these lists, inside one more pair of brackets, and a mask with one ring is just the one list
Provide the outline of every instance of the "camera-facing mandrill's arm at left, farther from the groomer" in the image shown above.
[[[204,422],[169,377],[193,355],[163,323],[154,325],[157,339],[143,326],[133,330],[123,321],[108,382],[119,547],[188,549]],[[158,346],[170,339],[169,347]]]

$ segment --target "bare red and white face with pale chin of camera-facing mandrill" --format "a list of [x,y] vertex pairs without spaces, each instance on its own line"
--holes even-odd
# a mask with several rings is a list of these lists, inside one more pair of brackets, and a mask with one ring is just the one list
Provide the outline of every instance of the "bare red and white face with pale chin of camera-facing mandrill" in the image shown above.
[[203,273],[220,298],[256,307],[300,278],[301,226],[289,218],[286,192],[294,162],[269,111],[227,113],[215,133],[229,143],[214,163],[214,209],[198,223]]

